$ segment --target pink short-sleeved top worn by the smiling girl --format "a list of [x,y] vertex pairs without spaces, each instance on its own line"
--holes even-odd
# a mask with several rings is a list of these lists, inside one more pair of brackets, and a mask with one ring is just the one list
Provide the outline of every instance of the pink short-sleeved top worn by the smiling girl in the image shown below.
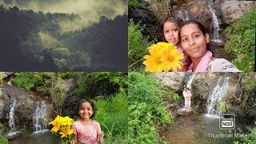
[[90,126],[78,120],[74,122],[72,128],[77,135],[78,144],[97,144],[97,136],[102,131],[99,123],[94,120]]

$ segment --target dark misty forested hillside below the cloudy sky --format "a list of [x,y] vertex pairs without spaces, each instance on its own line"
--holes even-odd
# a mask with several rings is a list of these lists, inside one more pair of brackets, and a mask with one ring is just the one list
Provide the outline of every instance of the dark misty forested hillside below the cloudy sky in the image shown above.
[[0,70],[127,70],[127,15],[113,20],[102,16],[90,26],[62,32],[60,22],[81,19],[78,14],[51,14],[1,5]]

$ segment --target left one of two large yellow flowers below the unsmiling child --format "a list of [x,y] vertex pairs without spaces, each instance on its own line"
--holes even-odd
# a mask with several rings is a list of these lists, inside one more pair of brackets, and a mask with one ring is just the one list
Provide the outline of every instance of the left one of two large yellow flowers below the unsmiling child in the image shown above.
[[160,50],[157,45],[150,47],[150,55],[145,55],[146,61],[143,62],[146,65],[146,71],[150,72],[162,72],[165,69],[164,63],[161,61]]

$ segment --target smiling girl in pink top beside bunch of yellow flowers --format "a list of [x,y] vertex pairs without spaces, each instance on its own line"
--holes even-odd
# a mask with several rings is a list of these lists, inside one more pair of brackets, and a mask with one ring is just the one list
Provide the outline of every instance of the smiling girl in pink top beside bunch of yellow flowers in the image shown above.
[[103,143],[103,133],[98,122],[92,120],[96,114],[96,107],[90,100],[82,99],[78,103],[80,119],[74,122],[74,141],[72,144],[100,144]]

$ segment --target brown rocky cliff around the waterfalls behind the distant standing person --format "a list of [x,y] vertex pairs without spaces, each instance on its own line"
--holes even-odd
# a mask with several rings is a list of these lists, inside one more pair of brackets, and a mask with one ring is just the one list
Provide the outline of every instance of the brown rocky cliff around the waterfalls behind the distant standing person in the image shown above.
[[[182,88],[189,81],[194,73],[153,73],[152,76],[161,83],[163,90],[175,91],[182,97]],[[240,118],[256,118],[256,114],[251,110],[244,110],[238,97],[243,94],[241,79],[235,73],[197,73],[191,85],[192,107],[198,106],[198,113],[206,114],[207,98],[212,94],[214,87],[220,78],[229,78],[226,95],[223,98],[225,102],[226,114],[235,114]],[[223,81],[220,81],[222,85]],[[222,90],[222,89],[220,89]],[[256,102],[256,98],[250,94],[250,102]],[[170,105],[179,105],[180,103],[171,103]],[[250,103],[248,103],[250,105]],[[171,106],[170,106],[171,107]],[[180,106],[181,107],[181,106]],[[249,114],[250,112],[250,114]]]

